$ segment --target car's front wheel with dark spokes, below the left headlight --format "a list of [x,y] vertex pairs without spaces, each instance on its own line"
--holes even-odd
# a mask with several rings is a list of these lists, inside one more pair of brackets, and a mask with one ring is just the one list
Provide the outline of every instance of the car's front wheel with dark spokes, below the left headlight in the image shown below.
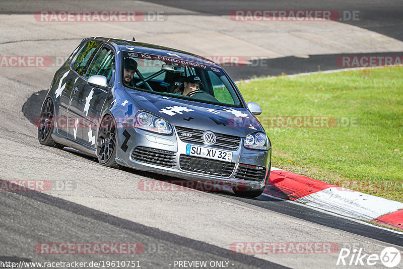
[[97,139],[97,156],[100,164],[120,168],[116,163],[117,151],[117,130],[116,122],[112,116],[106,115],[101,122]]

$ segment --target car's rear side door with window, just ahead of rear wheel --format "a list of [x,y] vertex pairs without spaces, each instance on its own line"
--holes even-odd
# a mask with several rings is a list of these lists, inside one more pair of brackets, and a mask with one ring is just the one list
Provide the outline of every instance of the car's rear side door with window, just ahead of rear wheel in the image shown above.
[[101,41],[91,40],[83,47],[80,53],[77,55],[74,63],[72,63],[72,73],[74,73],[74,85],[72,86],[71,95],[69,98],[68,109],[68,137],[78,142],[85,143],[84,140],[84,125],[83,120],[85,114],[80,111],[81,100],[84,98],[85,86],[87,80],[85,75],[88,70],[92,59],[95,57],[99,48],[102,46]]

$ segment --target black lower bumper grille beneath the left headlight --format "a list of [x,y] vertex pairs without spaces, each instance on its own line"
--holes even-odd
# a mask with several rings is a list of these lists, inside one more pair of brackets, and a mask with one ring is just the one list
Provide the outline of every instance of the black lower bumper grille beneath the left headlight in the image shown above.
[[174,152],[153,148],[137,147],[131,153],[131,158],[139,162],[164,167],[173,167],[175,165]]

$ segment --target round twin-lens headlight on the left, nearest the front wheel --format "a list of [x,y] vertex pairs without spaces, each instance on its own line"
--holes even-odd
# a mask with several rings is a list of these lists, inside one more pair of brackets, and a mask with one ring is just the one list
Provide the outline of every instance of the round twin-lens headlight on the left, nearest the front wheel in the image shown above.
[[165,119],[151,113],[139,111],[135,116],[135,127],[147,131],[171,134],[172,127]]

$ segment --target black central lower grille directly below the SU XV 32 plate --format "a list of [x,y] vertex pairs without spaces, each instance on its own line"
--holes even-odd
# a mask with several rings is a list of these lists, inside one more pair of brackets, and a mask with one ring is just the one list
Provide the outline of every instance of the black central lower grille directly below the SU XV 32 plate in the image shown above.
[[229,177],[234,171],[235,163],[181,154],[179,156],[179,166],[186,171]]

